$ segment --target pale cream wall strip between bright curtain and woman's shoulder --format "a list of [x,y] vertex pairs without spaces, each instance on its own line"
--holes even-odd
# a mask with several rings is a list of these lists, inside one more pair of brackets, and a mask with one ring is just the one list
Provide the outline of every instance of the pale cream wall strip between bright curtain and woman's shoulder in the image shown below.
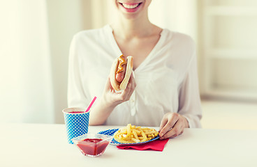
[[[90,11],[83,0],[47,0],[50,60],[52,66],[52,86],[54,122],[64,122],[62,109],[67,107],[68,51],[75,33],[90,28],[90,19],[85,19]],[[85,24],[87,20],[87,24]]]

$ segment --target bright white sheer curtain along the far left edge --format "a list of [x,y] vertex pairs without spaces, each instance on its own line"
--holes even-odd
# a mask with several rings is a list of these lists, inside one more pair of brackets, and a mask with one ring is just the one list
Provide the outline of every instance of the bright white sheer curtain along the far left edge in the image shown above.
[[54,122],[45,1],[1,1],[0,122]]

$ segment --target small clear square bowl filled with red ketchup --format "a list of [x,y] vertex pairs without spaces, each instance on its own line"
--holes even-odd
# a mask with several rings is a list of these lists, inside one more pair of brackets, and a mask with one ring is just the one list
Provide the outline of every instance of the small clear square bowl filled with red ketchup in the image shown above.
[[78,146],[82,154],[89,157],[98,157],[112,141],[113,136],[105,134],[84,134],[71,139]]

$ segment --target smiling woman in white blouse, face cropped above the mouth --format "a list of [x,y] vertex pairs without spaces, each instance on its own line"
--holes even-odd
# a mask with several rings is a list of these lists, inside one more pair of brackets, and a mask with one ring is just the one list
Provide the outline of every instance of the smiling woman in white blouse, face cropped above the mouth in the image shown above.
[[[68,106],[85,107],[96,95],[100,98],[91,109],[89,125],[160,126],[161,139],[200,127],[193,40],[149,22],[151,0],[112,3],[119,13],[115,23],[73,38]],[[126,90],[115,93],[108,74],[112,61],[122,54],[133,56],[133,75]]]

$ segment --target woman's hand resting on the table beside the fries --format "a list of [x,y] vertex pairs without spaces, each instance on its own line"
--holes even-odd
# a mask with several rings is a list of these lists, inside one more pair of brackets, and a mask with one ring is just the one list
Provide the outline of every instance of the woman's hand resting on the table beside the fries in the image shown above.
[[160,139],[175,138],[189,127],[189,122],[179,113],[166,113],[161,120],[159,135]]

